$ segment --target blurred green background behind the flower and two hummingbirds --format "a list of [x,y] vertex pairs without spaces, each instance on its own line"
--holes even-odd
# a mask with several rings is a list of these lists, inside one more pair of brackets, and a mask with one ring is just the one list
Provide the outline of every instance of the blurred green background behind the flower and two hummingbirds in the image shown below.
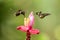
[[60,0],[0,0],[0,40],[25,40],[26,33],[16,30],[24,25],[23,15],[15,16],[19,9],[26,12],[26,17],[31,11],[51,14],[44,19],[34,15],[33,27],[40,34],[31,35],[31,40],[60,40]]

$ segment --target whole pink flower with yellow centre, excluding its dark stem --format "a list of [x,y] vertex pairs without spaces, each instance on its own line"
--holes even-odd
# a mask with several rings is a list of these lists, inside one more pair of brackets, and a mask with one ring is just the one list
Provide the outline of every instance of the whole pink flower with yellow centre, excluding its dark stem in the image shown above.
[[34,29],[32,26],[34,24],[33,12],[30,13],[28,18],[24,18],[24,26],[18,26],[17,30],[27,32],[29,30],[30,34],[39,34],[38,29]]

